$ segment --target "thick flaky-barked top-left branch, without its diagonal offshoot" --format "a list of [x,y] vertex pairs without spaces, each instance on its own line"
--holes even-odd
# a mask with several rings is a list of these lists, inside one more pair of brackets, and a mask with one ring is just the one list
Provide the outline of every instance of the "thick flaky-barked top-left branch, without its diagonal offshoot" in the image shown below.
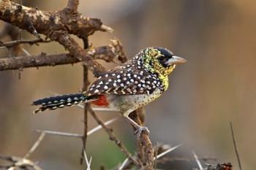
[[[77,1],[69,0],[68,7],[75,7]],[[68,15],[68,17],[67,17]],[[67,19],[68,18],[68,19]],[[78,37],[89,36],[95,31],[108,31],[97,18],[86,18],[80,13],[68,13],[65,10],[46,12],[33,7],[25,7],[10,0],[0,1],[0,19],[23,28],[34,34],[49,36],[53,31],[67,31]]]

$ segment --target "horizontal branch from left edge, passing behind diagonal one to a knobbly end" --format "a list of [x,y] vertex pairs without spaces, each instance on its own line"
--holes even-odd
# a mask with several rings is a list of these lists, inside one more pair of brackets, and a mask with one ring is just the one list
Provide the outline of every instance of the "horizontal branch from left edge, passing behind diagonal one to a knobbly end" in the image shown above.
[[[118,51],[119,46],[107,45],[102,47],[91,48],[86,50],[86,55],[93,56],[94,59],[101,59],[107,62],[113,61],[114,58],[120,58],[118,54],[123,53]],[[12,69],[24,69],[39,66],[57,66],[63,64],[72,64],[80,62],[78,58],[74,58],[67,53],[46,55],[20,56],[15,58],[1,58],[0,71]]]

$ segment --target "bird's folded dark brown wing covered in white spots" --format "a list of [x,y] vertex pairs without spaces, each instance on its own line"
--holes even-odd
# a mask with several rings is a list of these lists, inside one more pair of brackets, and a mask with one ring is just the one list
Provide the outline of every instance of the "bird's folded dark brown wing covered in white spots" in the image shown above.
[[99,77],[86,92],[88,96],[100,94],[132,95],[150,94],[162,83],[156,74],[139,69],[115,69]]

